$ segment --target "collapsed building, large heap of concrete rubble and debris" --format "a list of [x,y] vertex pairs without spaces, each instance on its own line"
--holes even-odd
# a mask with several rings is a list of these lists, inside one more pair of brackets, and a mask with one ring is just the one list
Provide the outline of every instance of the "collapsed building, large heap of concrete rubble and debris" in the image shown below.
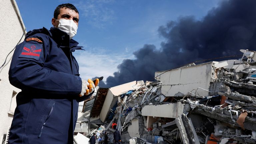
[[[113,143],[255,144],[256,54],[155,72],[155,82],[100,88],[84,102],[89,136]],[[244,59],[245,57],[245,59]],[[82,132],[82,131],[77,131]]]

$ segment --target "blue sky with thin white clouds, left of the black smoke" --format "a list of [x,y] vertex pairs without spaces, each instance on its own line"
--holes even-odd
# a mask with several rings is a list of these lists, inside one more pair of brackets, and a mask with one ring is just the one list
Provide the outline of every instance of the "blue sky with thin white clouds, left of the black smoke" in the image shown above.
[[86,51],[75,57],[83,79],[107,78],[117,71],[123,59],[144,44],[158,49],[164,38],[158,27],[180,16],[193,15],[200,20],[221,0],[16,0],[27,31],[50,29],[54,9],[72,3],[79,11],[77,35],[73,38]]

